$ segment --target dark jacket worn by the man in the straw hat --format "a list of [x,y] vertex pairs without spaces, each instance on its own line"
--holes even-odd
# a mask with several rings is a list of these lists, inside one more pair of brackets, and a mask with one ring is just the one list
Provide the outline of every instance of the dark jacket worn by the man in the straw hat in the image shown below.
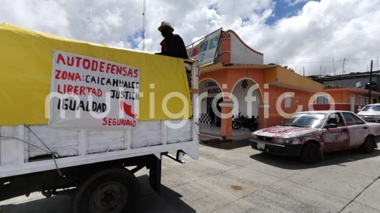
[[180,35],[174,34],[162,40],[159,55],[188,59],[185,43]]

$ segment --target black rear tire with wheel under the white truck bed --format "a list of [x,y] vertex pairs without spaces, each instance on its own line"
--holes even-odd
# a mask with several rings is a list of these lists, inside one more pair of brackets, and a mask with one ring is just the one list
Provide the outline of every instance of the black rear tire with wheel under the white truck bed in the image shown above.
[[139,197],[135,175],[125,168],[99,171],[78,187],[72,200],[72,212],[130,212]]

